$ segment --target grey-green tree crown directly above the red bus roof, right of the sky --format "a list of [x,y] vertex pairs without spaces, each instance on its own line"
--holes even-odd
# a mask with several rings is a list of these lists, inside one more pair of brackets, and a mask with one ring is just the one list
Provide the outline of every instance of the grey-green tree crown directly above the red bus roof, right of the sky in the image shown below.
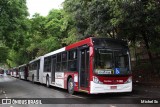
[[64,10],[72,17],[81,39],[90,35],[116,38],[111,21],[113,5],[106,0],[66,0]]

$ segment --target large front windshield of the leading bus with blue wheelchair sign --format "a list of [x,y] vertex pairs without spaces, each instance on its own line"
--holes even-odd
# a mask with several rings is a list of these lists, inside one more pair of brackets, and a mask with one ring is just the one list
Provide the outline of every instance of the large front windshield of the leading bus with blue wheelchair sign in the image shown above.
[[126,75],[130,73],[127,50],[95,48],[95,70],[98,75]]

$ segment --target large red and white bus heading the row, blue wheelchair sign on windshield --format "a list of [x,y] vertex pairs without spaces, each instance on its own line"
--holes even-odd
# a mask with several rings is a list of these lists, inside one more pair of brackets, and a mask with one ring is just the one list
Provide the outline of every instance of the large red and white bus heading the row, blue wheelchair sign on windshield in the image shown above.
[[129,49],[121,40],[91,37],[33,62],[37,62],[36,81],[68,89],[70,94],[132,91]]

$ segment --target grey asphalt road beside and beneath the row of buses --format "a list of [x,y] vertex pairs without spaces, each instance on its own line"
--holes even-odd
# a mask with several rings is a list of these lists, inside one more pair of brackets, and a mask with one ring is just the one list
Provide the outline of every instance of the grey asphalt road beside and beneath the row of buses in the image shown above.
[[[10,76],[0,77],[0,98],[48,98],[49,104],[42,105],[0,105],[0,107],[150,107],[159,104],[136,104],[145,98],[160,98],[159,88],[134,86],[132,93],[96,94],[77,93],[69,95],[66,90],[42,84],[33,84]],[[50,99],[52,98],[52,99]],[[46,101],[46,103],[47,103]],[[50,102],[51,101],[51,102]]]

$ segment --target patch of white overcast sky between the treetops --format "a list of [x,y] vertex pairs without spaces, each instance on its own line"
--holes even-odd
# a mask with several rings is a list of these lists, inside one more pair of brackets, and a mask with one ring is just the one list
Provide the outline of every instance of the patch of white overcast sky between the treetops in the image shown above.
[[62,8],[64,0],[26,0],[30,17],[35,13],[47,16],[51,9]]

